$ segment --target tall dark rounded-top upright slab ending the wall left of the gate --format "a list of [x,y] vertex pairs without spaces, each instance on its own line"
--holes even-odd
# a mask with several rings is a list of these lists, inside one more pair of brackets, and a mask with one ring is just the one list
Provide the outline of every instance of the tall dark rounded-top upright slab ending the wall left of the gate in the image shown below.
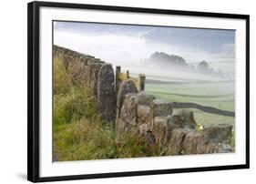
[[114,71],[110,64],[100,67],[97,76],[98,110],[103,119],[113,121],[116,112],[116,96],[114,89]]

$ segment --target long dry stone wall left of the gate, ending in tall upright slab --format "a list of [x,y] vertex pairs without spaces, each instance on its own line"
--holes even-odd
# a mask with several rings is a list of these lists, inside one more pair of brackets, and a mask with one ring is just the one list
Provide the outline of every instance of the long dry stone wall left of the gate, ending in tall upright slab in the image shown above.
[[61,46],[53,46],[53,54],[64,62],[75,82],[86,85],[90,93],[97,97],[102,117],[113,121],[116,114],[116,94],[112,65]]

